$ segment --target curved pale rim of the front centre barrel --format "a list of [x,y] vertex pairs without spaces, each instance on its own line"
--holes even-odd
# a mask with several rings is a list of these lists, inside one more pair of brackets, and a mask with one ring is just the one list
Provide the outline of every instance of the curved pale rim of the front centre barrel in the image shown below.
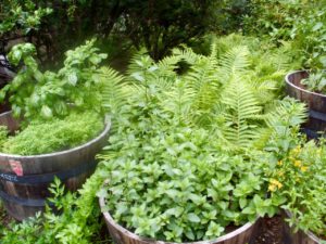
[[[105,206],[105,201],[103,196],[99,197],[99,203],[100,203],[100,207],[101,209],[103,209],[103,207]],[[154,239],[150,239],[150,237],[141,237],[137,234],[135,234],[134,232],[130,232],[129,230],[125,229],[124,227],[120,226],[117,222],[115,222],[115,220],[112,218],[112,216],[110,215],[109,211],[102,211],[105,220],[114,228],[117,229],[118,231],[123,232],[125,235],[128,235],[129,237],[136,240],[136,241],[146,241],[146,242],[152,242],[152,243],[160,243],[160,244],[180,244],[180,243],[175,243],[175,242],[165,242],[165,241],[158,241]],[[255,219],[254,222],[247,222],[243,226],[237,228],[236,230],[222,235],[217,239],[214,240],[210,240],[210,241],[195,241],[195,242],[184,242],[183,244],[211,244],[211,243],[217,243],[217,242],[223,242],[223,241],[227,241],[230,237],[234,237],[244,231],[247,231],[248,229],[250,229],[251,227],[253,227],[260,217],[258,217]]]

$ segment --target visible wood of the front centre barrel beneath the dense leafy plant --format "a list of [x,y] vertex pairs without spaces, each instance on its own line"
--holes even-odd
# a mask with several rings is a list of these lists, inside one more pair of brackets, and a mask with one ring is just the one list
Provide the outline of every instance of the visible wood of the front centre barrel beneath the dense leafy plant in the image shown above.
[[[99,198],[101,209],[105,209],[104,197]],[[115,244],[177,244],[152,239],[141,237],[116,223],[109,211],[103,211],[103,217]],[[259,219],[254,223],[246,223],[244,226],[211,241],[191,242],[185,244],[247,244],[254,237]]]

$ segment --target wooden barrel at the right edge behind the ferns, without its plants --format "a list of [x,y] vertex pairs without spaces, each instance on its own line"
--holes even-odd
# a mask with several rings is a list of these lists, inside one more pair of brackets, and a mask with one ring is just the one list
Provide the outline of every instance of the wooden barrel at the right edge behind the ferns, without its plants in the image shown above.
[[301,85],[301,80],[309,77],[306,70],[290,73],[286,76],[287,93],[309,107],[309,120],[303,130],[309,138],[317,138],[318,131],[326,131],[326,95],[309,91]]

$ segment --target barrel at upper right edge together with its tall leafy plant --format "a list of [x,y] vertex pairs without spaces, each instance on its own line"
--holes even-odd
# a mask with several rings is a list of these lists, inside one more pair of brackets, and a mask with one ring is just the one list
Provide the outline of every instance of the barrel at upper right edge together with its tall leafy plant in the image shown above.
[[291,35],[298,60],[306,70],[297,70],[286,76],[287,92],[308,104],[310,119],[303,126],[308,136],[316,138],[326,130],[326,44],[325,9],[313,8],[296,22]]

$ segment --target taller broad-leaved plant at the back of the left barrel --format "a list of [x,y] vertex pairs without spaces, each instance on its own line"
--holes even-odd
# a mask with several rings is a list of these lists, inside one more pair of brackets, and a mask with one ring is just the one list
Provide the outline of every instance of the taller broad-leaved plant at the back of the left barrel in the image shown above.
[[15,46],[9,54],[12,64],[24,63],[15,78],[1,90],[10,95],[15,116],[24,119],[65,116],[72,110],[101,112],[101,86],[97,68],[105,54],[97,54],[95,40],[66,52],[64,67],[58,73],[40,72],[30,43]]

